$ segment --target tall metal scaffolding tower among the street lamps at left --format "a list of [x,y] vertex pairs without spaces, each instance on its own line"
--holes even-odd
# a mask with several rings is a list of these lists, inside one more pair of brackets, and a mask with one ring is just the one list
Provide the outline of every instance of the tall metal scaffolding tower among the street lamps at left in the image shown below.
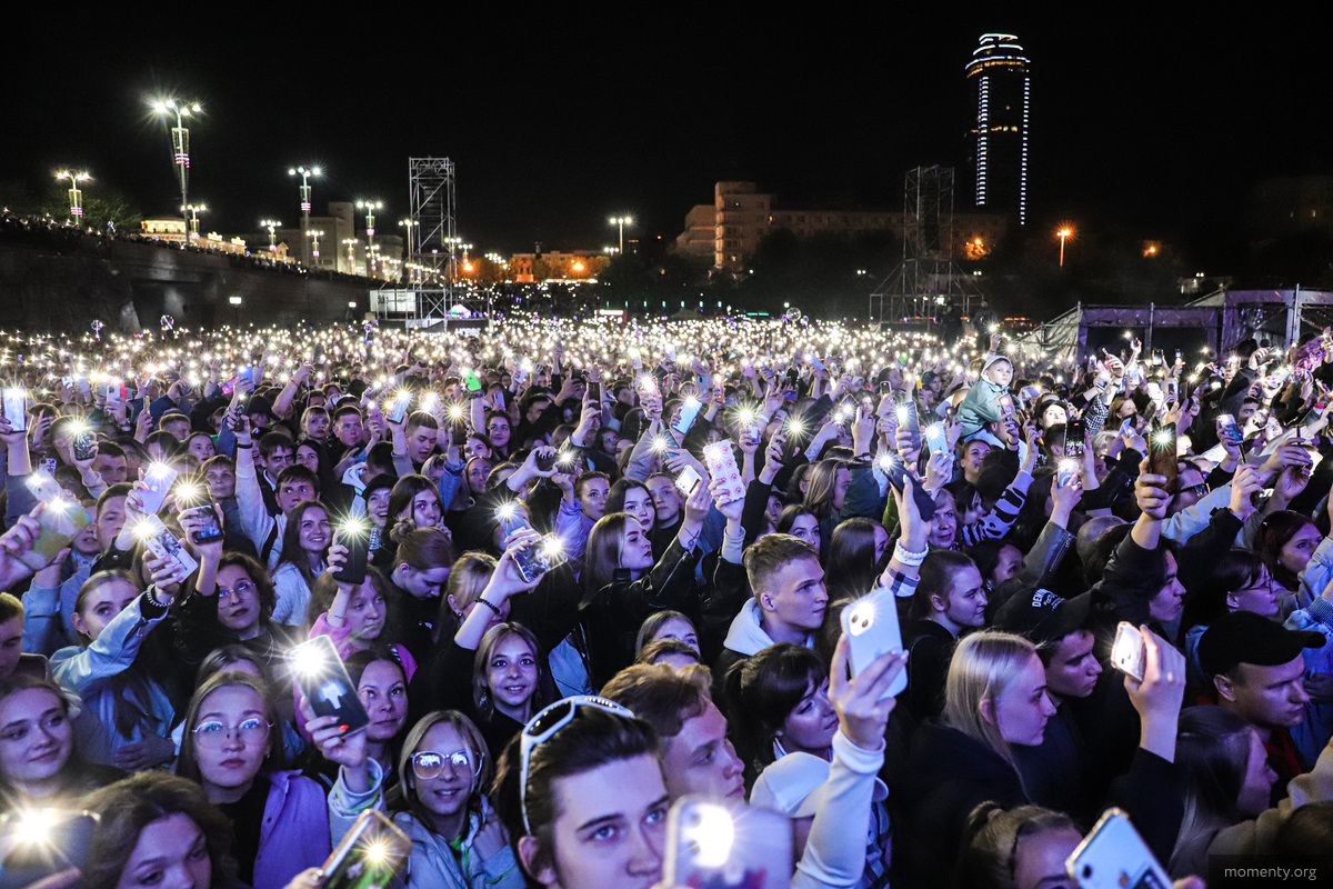
[[[459,231],[455,167],[448,157],[409,157],[411,249],[405,276],[415,291],[415,320],[443,320],[457,300]],[[415,272],[415,273],[413,273]]]

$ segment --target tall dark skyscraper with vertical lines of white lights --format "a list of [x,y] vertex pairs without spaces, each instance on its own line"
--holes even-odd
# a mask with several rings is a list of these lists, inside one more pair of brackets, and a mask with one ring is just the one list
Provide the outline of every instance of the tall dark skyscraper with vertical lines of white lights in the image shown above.
[[977,208],[1013,213],[1020,225],[1028,223],[1029,64],[1016,36],[984,33],[966,67],[977,108]]

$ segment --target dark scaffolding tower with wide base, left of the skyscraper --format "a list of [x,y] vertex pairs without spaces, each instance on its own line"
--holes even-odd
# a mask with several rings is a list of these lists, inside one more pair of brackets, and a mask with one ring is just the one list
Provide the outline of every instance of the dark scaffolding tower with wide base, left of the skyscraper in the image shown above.
[[902,263],[870,293],[869,320],[936,317],[945,307],[972,315],[977,288],[953,261],[953,168],[916,167],[902,191]]

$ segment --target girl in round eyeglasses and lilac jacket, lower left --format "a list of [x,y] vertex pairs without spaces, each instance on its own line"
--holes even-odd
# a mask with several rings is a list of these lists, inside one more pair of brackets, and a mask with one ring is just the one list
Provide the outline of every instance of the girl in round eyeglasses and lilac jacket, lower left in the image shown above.
[[[361,749],[364,756],[364,740]],[[324,864],[373,798],[349,790],[343,774],[325,794],[300,772],[283,770],[281,760],[281,730],[260,680],[229,670],[195,692],[176,773],[197,781],[231,820],[237,878],[255,889],[284,889]],[[365,769],[380,774],[379,765]]]

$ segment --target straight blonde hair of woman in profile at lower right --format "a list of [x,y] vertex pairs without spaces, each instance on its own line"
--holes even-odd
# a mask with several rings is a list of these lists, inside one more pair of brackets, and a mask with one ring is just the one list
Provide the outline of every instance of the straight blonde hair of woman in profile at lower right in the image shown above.
[[949,678],[944,686],[945,724],[981,741],[1013,765],[1013,750],[1000,734],[998,720],[986,720],[981,714],[981,704],[990,701],[994,713],[996,698],[1034,657],[1037,646],[1012,633],[986,630],[964,637],[949,661]]

